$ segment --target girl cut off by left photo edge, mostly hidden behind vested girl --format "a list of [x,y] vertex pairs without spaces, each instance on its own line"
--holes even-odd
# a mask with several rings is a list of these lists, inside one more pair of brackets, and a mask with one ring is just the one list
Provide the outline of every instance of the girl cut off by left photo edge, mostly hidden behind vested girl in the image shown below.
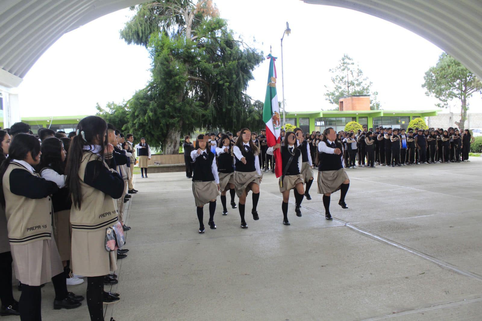
[[[10,147],[10,135],[0,130],[0,164],[7,159]],[[20,315],[18,302],[13,298],[12,292],[12,252],[8,241],[7,217],[5,208],[0,206],[0,315]]]

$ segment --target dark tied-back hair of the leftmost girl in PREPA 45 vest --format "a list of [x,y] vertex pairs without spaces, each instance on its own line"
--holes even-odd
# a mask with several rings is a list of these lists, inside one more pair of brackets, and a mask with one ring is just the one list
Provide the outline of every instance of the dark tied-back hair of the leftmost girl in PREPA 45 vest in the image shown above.
[[[0,165],[0,203],[5,206],[5,195],[3,194],[3,175],[8,165],[13,160],[23,161],[30,152],[32,159],[36,159],[40,153],[40,142],[35,136],[30,134],[16,134],[15,139],[8,148],[8,157]],[[3,152],[2,152],[3,154]]]

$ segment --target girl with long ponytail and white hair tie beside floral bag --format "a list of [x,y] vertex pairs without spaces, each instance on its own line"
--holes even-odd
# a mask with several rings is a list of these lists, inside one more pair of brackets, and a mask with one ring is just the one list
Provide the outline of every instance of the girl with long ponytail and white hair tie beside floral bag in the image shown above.
[[[107,124],[102,118],[80,120],[66,168],[72,197],[72,269],[87,277],[91,321],[104,320],[104,277],[117,269],[116,252],[106,251],[106,228],[119,222],[116,199],[125,190],[122,177],[115,171],[114,147],[106,136]],[[104,157],[110,159],[110,167]]]

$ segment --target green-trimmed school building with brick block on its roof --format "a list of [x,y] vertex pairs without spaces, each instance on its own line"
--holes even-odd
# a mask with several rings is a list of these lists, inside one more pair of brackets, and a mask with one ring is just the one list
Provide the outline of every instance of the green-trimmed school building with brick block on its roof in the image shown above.
[[[370,96],[345,96],[339,100],[339,110],[286,112],[286,123],[299,127],[304,133],[333,127],[336,132],[345,129],[350,121],[368,128],[407,128],[410,120],[437,116],[439,109],[431,110],[370,110]],[[281,119],[282,123],[282,119]]]

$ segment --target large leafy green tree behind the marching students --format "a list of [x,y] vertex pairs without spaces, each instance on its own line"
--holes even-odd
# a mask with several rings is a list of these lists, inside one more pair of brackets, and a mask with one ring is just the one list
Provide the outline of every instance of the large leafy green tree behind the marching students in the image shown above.
[[234,131],[256,119],[244,92],[263,55],[235,39],[211,0],[152,1],[131,10],[120,36],[146,46],[152,59],[151,81],[127,103],[131,130],[175,154],[181,134]]

